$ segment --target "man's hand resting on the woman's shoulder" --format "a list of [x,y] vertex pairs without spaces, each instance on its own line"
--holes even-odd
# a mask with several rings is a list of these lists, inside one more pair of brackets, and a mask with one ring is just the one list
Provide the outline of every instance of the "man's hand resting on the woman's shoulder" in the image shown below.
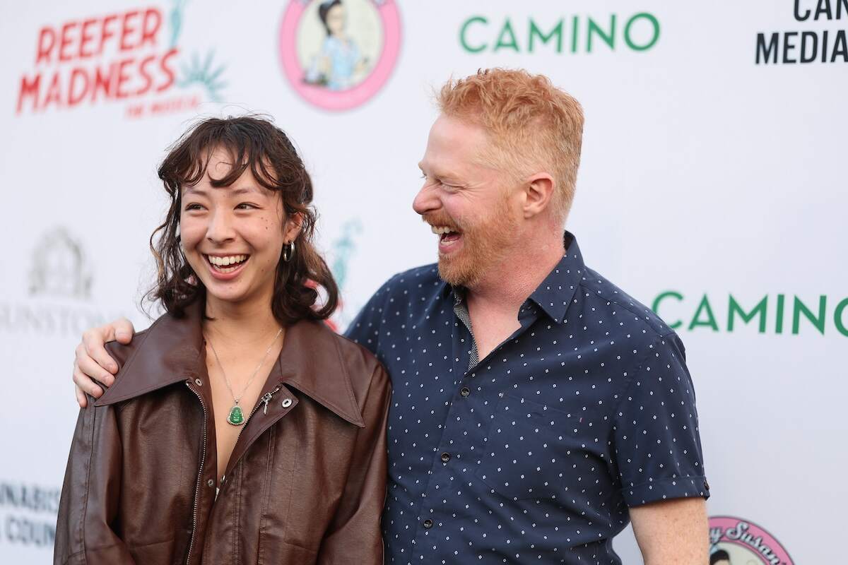
[[118,372],[118,363],[106,352],[106,342],[116,340],[126,345],[132,340],[134,331],[130,320],[120,318],[82,334],[74,359],[76,402],[79,402],[80,407],[85,408],[88,404],[86,393],[95,398],[103,394],[103,389],[95,381],[106,386],[114,383],[113,375]]

